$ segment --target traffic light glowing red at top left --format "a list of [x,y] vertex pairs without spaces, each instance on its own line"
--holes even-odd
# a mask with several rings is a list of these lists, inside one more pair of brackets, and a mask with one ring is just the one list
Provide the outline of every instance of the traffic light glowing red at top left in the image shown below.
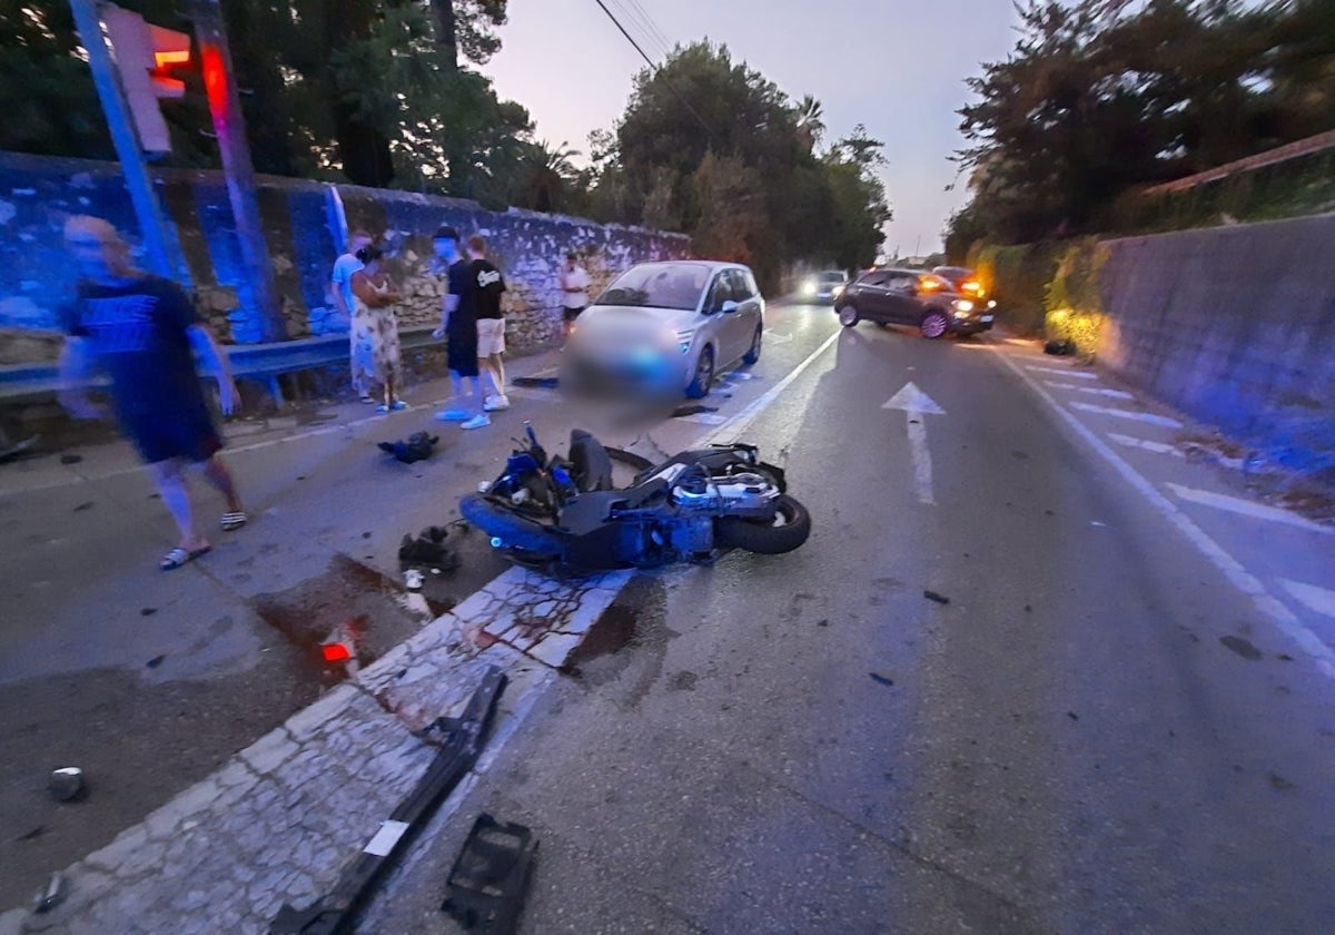
[[186,83],[171,68],[190,63],[190,36],[146,23],[144,17],[112,4],[101,5],[116,72],[139,131],[144,152],[171,152],[171,134],[158,102],[182,98]]

